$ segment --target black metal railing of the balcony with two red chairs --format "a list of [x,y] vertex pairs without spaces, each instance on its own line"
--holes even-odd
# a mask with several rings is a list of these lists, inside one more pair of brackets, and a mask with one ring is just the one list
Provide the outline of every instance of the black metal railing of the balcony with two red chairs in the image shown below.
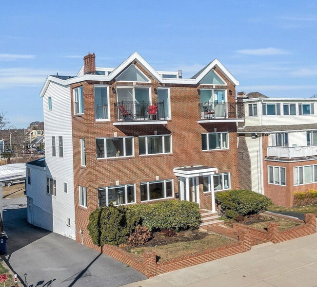
[[124,102],[115,103],[117,121],[157,121],[165,120],[164,102]]

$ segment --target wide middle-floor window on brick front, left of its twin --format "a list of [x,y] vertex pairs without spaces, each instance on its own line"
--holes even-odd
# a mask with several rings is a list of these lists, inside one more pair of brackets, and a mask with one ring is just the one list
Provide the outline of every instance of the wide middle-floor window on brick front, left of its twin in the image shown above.
[[134,156],[133,137],[97,139],[96,152],[98,159]]

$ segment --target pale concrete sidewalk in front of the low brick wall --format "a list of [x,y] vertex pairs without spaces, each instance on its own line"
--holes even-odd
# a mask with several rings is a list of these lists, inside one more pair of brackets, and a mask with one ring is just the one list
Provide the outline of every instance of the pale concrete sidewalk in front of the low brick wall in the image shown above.
[[315,287],[317,234],[165,273],[125,287]]

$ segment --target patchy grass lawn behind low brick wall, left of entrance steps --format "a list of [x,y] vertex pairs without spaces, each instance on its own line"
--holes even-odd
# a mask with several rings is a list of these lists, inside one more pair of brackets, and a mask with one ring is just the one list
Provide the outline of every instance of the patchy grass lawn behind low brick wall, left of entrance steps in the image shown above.
[[142,253],[145,251],[153,251],[157,253],[157,256],[159,256],[159,261],[164,261],[206,249],[221,247],[229,243],[233,243],[233,241],[218,235],[206,234],[204,238],[198,240],[178,241],[161,246],[132,247],[129,248],[128,251],[139,257],[141,257]]

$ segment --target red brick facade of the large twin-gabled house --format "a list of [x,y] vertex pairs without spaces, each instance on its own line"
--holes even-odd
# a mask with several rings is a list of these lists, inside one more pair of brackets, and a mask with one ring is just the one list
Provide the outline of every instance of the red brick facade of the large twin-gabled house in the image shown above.
[[[155,89],[162,87],[160,83],[145,70],[138,62],[135,65],[144,72],[151,83],[136,83],[136,86],[151,87],[152,101],[157,101]],[[226,79],[219,70],[218,74]],[[110,122],[95,120],[94,84],[109,85],[110,93]],[[74,157],[74,197],[76,217],[77,241],[94,248],[86,231],[90,213],[98,207],[98,188],[119,185],[136,184],[136,202],[140,203],[140,182],[162,179],[174,179],[174,195],[178,192],[178,180],[173,168],[181,166],[204,165],[218,168],[218,173],[230,172],[231,189],[238,189],[238,154],[237,154],[237,124],[205,123],[198,124],[199,119],[199,89],[211,88],[199,85],[165,85],[170,88],[171,120],[167,125],[129,125],[114,126],[115,109],[117,102],[117,85],[131,86],[133,83],[117,84],[111,82],[85,81],[71,85],[70,97],[72,102],[72,131],[73,131],[73,157]],[[74,115],[73,89],[83,87],[84,114]],[[215,89],[227,90],[227,102],[235,104],[235,86],[227,80],[227,86],[215,86]],[[201,134],[206,132],[228,131],[229,149],[202,151]],[[171,134],[172,154],[139,156],[140,135]],[[96,138],[117,136],[134,136],[134,157],[129,158],[96,158]],[[85,139],[86,167],[80,164],[80,139]],[[202,192],[202,181],[199,179],[200,207],[211,209],[211,195]],[[79,206],[79,186],[87,188],[87,206]],[[82,234],[80,233],[82,231]]]

